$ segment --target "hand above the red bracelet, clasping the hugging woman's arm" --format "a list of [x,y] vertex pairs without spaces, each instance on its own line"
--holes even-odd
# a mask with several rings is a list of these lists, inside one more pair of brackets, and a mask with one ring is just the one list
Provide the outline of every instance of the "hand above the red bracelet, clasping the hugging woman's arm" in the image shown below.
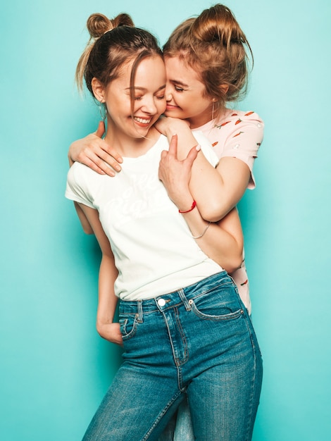
[[163,150],[158,166],[158,178],[163,182],[170,199],[178,209],[185,210],[192,204],[192,195],[189,190],[192,165],[199,149],[193,147],[183,161],[177,159],[177,135],[173,135],[169,150]]

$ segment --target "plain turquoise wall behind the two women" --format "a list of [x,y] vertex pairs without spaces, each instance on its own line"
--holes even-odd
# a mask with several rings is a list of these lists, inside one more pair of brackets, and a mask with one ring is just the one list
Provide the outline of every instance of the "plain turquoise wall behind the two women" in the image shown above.
[[[94,328],[98,247],[63,195],[68,146],[99,119],[73,82],[85,22],[127,11],[163,44],[212,3],[118,3],[0,6],[1,440],[80,440],[120,363]],[[329,440],[331,6],[226,4],[256,61],[240,108],[266,122],[257,188],[239,204],[265,367],[254,441]]]

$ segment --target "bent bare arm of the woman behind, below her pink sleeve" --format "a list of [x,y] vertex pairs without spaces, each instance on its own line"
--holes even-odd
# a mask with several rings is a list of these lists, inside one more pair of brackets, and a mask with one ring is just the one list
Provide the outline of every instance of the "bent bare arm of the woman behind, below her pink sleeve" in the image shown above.
[[[177,134],[177,159],[185,159],[189,150],[196,145],[196,139],[185,121],[163,117],[156,123],[156,128],[168,137],[169,142]],[[173,163],[169,162],[167,166],[168,179],[177,180]],[[239,159],[223,158],[215,169],[203,154],[199,154],[192,166],[189,187],[199,202],[201,216],[213,222],[222,219],[242,198],[250,176],[249,167]]]

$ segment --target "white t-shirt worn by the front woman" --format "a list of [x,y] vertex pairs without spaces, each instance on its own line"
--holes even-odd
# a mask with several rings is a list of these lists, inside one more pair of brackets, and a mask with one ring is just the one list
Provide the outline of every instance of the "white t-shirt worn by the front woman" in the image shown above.
[[[213,166],[218,162],[208,140],[194,132]],[[118,268],[115,294],[124,300],[150,299],[222,271],[192,238],[187,223],[158,179],[161,135],[146,154],[123,158],[110,178],[81,163],[68,172],[65,197],[99,211]]]

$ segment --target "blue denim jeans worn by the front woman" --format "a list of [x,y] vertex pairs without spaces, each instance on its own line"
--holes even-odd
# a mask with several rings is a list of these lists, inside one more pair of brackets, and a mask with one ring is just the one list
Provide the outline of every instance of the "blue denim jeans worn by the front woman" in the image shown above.
[[156,441],[185,397],[196,440],[251,440],[261,353],[225,271],[119,311],[123,364],[84,441]]

